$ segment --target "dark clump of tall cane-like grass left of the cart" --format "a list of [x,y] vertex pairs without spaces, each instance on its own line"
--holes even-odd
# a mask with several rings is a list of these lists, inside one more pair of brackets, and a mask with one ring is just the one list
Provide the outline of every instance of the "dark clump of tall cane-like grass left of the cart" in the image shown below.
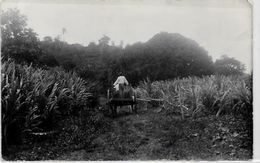
[[60,68],[43,70],[8,61],[1,70],[2,138],[52,130],[61,115],[76,114],[91,94],[86,82]]

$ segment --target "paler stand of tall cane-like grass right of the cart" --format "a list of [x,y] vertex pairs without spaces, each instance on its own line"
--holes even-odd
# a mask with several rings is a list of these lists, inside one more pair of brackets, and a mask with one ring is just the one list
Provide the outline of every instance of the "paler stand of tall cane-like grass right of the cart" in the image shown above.
[[143,98],[164,99],[164,106],[180,112],[183,118],[199,113],[252,114],[252,85],[247,78],[216,75],[152,83],[143,81],[136,91]]

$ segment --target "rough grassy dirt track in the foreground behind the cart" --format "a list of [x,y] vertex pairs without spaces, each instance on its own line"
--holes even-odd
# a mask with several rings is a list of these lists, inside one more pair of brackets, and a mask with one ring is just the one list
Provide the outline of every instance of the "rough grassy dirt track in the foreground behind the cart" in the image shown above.
[[130,114],[123,108],[111,123],[109,130],[96,137],[91,145],[65,153],[58,160],[236,160],[251,157],[246,149],[231,149],[230,143],[235,146],[235,139],[215,142],[212,133],[222,131],[216,129],[217,123],[211,125],[205,120],[180,120],[178,116],[158,113],[157,109]]

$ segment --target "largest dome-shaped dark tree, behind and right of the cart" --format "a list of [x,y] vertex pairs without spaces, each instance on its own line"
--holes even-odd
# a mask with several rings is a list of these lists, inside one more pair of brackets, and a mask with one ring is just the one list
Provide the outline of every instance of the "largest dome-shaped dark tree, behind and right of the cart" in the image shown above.
[[177,33],[161,32],[145,43],[126,46],[123,67],[135,84],[147,77],[167,80],[210,75],[212,58],[199,44]]

